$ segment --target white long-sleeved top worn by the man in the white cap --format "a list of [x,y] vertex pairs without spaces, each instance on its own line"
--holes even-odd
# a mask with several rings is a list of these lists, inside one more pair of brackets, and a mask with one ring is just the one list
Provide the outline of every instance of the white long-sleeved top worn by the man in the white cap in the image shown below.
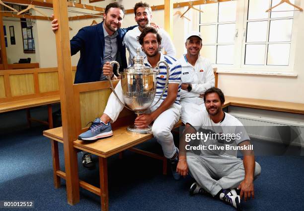
[[195,98],[204,94],[206,90],[215,85],[215,77],[211,62],[203,57],[198,58],[195,65],[192,66],[184,54],[179,60],[182,66],[181,82],[182,84],[191,84],[191,92],[181,90],[180,98]]

